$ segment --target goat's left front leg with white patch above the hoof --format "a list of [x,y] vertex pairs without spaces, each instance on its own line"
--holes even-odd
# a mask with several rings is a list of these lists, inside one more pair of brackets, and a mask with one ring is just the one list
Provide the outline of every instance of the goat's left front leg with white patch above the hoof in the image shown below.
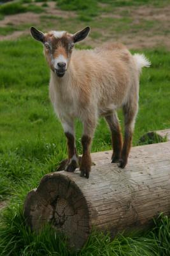
[[67,152],[68,158],[60,163],[59,170],[62,168],[66,172],[74,172],[78,167],[78,155],[76,152],[75,136],[74,136],[74,122],[63,122],[64,133],[67,138]]

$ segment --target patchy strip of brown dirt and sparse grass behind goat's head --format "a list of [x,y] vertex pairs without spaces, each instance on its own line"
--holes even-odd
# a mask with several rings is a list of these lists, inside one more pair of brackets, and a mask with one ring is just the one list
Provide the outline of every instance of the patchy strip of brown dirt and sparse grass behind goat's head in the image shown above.
[[[42,3],[36,4],[41,6]],[[29,27],[34,24],[43,31],[64,28],[74,33],[73,28],[79,29],[80,23],[82,26],[90,23],[91,33],[85,44],[92,47],[106,40],[120,40],[130,49],[162,45],[169,47],[170,4],[161,7],[152,5],[115,7],[110,6],[109,3],[99,3],[99,6],[101,12],[90,22],[81,21],[75,11],[60,10],[54,1],[48,2],[48,6],[41,13],[8,15],[0,22],[0,40],[13,40],[22,35],[29,35]],[[77,22],[78,19],[80,22]],[[13,31],[13,28],[18,31]]]

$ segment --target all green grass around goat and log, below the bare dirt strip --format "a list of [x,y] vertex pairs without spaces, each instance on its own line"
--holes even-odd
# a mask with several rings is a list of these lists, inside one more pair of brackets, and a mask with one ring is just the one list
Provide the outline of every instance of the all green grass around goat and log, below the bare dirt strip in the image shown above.
[[[48,236],[45,236],[46,230],[38,236],[32,234],[22,216],[22,204],[27,192],[38,186],[41,177],[53,172],[59,161],[66,157],[64,132],[48,99],[49,71],[42,46],[31,38],[0,42],[0,46],[3,49],[0,52],[3,63],[0,67],[0,195],[1,200],[12,198],[0,227],[0,254],[71,255],[65,238],[61,239],[53,230],[48,232]],[[146,132],[166,129],[170,125],[167,111],[170,97],[167,67],[170,65],[170,54],[164,49],[148,50],[145,54],[152,62],[152,67],[143,70],[141,76],[134,145],[138,145],[139,138]],[[121,112],[119,116],[122,124]],[[76,145],[81,153],[79,122],[76,123],[76,130]],[[108,149],[111,149],[111,136],[101,119],[92,151]],[[162,250],[166,250],[166,238],[162,234],[169,234],[169,226],[167,223],[162,224],[162,234],[156,227],[157,224],[153,226],[154,238],[140,234],[136,237],[118,236],[112,241],[104,234],[92,234],[78,255],[90,255],[90,250],[94,252],[91,255],[168,255],[162,253]],[[163,247],[159,252],[160,238]],[[11,246],[13,244],[15,246]]]

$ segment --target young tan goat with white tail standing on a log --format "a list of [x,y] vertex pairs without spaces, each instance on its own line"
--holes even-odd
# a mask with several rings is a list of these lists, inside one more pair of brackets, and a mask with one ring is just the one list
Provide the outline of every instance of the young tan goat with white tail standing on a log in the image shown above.
[[[122,44],[107,44],[94,50],[73,51],[74,44],[87,37],[87,27],[74,35],[66,31],[42,33],[31,27],[31,35],[44,45],[46,61],[51,68],[50,99],[67,137],[68,159],[62,162],[67,172],[80,165],[81,177],[89,178],[92,164],[90,145],[99,116],[104,116],[111,130],[113,156],[111,163],[127,164],[132,133],[138,112],[139,74],[150,62],[143,54],[132,54]],[[125,135],[117,118],[123,108]],[[76,152],[74,119],[83,123],[81,143],[83,156]]]

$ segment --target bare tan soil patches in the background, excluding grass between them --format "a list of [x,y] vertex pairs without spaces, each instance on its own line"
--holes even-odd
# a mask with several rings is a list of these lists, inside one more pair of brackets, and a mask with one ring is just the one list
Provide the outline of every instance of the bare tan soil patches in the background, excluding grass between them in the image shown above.
[[[39,4],[39,3],[38,3]],[[127,13],[127,15],[126,15]],[[91,45],[92,47],[101,44],[103,41],[118,40],[123,42],[130,49],[142,49],[142,48],[152,48],[157,46],[165,46],[169,48],[170,45],[170,33],[162,33],[162,31],[168,31],[170,24],[170,5],[163,8],[155,8],[153,6],[140,6],[138,8],[132,7],[121,7],[117,8],[113,13],[102,13],[98,19],[103,19],[106,17],[111,17],[115,19],[121,19],[123,17],[129,17],[132,19],[133,24],[141,24],[141,20],[153,21],[155,22],[153,26],[138,29],[137,33],[133,31],[123,31],[114,35],[106,28],[104,31],[101,29],[92,28],[92,31],[97,31],[101,33],[101,38],[87,38],[85,44]],[[21,24],[41,24],[41,15],[52,15],[56,17],[62,17],[68,19],[69,17],[76,17],[76,12],[66,12],[56,8],[54,2],[48,2],[48,8],[46,8],[45,13],[20,13],[17,15],[8,15],[4,20],[0,21],[0,26],[8,26],[8,24],[13,24],[13,26],[18,26]],[[89,22],[90,23],[90,22]],[[23,31],[15,31],[10,35],[0,35],[0,40],[15,40],[22,35],[29,35],[28,29]]]

